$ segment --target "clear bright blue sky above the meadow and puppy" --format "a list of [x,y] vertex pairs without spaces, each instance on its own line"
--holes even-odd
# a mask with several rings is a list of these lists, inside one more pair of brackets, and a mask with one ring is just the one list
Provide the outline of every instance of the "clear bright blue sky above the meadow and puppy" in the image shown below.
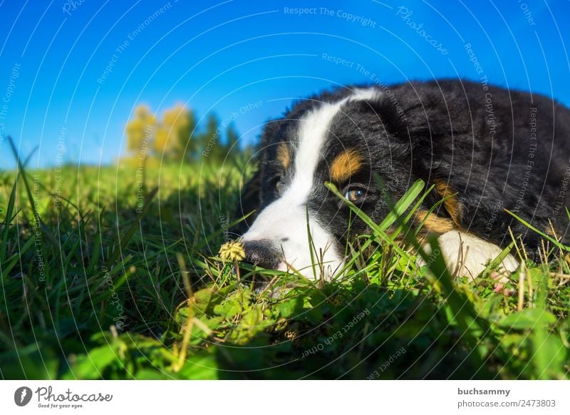
[[126,154],[140,103],[243,143],[324,88],[463,78],[570,106],[570,1],[2,1],[0,169]]

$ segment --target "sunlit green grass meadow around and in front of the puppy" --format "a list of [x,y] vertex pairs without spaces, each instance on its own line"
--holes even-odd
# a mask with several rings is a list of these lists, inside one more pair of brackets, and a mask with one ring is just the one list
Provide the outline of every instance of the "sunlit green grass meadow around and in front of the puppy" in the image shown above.
[[150,163],[141,183],[124,162],[1,172],[0,378],[569,378],[560,247],[545,240],[556,260],[512,275],[514,296],[494,292],[489,272],[453,279],[437,255],[420,252],[427,266],[415,267],[416,183],[378,224],[353,207],[373,233],[346,247],[343,279],[242,265],[238,282],[217,251],[241,173]]

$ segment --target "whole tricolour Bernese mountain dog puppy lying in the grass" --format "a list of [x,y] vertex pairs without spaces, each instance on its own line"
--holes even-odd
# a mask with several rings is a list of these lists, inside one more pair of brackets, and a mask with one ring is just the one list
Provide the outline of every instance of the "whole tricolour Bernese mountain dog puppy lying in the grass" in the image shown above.
[[[257,158],[238,214],[254,211],[242,240],[261,267],[341,271],[347,238],[371,230],[326,182],[377,223],[390,212],[386,192],[398,200],[418,179],[434,185],[414,221],[470,278],[509,245],[509,227],[537,255],[541,237],[505,210],[569,240],[570,111],[546,96],[459,80],[337,88],[266,123]],[[509,254],[500,266],[518,264]]]

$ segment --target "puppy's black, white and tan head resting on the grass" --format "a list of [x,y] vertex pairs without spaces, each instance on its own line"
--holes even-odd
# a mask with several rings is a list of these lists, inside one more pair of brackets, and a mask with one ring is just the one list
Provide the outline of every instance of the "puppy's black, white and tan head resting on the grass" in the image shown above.
[[267,123],[249,184],[258,190],[256,215],[243,235],[247,260],[309,278],[339,272],[347,239],[368,229],[324,183],[380,222],[389,205],[375,174],[396,198],[413,180],[401,126],[390,98],[373,87],[323,93]]

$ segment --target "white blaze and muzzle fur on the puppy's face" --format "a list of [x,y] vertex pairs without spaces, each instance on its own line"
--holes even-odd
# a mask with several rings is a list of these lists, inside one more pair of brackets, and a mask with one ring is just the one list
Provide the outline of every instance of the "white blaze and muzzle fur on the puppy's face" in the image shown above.
[[[244,235],[244,241],[267,240],[282,252],[284,261],[306,277],[318,278],[311,266],[311,247],[307,235],[306,203],[311,195],[316,168],[323,153],[328,130],[336,114],[348,101],[376,98],[378,90],[359,89],[351,96],[336,103],[323,103],[299,120],[298,141],[291,184],[281,197],[259,212],[252,227]],[[347,223],[348,227],[348,223]],[[331,278],[343,265],[343,255],[337,252],[334,237],[315,217],[309,215],[309,230],[314,243],[312,256],[323,263],[324,277]],[[319,257],[323,252],[323,257]],[[318,270],[318,265],[316,270]],[[279,270],[287,270],[284,262]],[[318,271],[317,271],[318,272]]]

